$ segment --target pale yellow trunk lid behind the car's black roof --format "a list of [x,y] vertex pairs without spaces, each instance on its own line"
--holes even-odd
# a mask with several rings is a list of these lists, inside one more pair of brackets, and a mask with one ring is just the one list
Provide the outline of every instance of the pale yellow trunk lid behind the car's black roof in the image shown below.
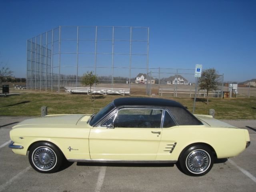
[[198,118],[206,126],[237,128],[236,126],[217,120],[210,115],[194,115],[194,116],[196,116],[196,118]]

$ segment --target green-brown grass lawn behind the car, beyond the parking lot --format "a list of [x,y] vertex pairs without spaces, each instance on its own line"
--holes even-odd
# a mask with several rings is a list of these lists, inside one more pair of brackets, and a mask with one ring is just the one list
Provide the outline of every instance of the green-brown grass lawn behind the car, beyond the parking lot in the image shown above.
[[[10,89],[10,92],[22,94],[0,97],[0,116],[40,116],[42,106],[48,107],[48,114],[92,114],[94,108],[96,113],[115,98],[124,97],[96,95],[95,102],[92,102],[90,95],[85,94],[14,89]],[[190,112],[193,110],[194,98],[162,98],[176,100]],[[209,101],[207,105],[206,99],[198,98],[195,114],[208,114],[209,109],[214,109],[217,119],[256,119],[256,98],[210,98]]]

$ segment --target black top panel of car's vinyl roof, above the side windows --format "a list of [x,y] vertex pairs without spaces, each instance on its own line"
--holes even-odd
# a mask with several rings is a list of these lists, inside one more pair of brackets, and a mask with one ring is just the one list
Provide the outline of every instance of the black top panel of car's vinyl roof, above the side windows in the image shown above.
[[158,107],[180,107],[185,108],[182,104],[168,99],[160,98],[136,98],[125,97],[118,98],[113,101],[116,107],[119,106],[158,106]]

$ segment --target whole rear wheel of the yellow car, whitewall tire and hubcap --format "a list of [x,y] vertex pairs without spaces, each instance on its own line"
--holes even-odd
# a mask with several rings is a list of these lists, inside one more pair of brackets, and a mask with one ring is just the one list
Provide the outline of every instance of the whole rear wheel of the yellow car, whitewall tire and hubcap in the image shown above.
[[187,175],[205,175],[213,166],[212,150],[204,145],[191,146],[182,152],[179,164],[182,171]]

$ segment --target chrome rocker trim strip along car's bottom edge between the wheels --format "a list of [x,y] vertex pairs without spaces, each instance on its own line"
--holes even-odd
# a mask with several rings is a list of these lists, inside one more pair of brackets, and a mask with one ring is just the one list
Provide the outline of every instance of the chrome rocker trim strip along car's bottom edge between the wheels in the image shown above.
[[88,163],[176,163],[178,160],[106,160],[106,159],[68,159],[70,162]]

